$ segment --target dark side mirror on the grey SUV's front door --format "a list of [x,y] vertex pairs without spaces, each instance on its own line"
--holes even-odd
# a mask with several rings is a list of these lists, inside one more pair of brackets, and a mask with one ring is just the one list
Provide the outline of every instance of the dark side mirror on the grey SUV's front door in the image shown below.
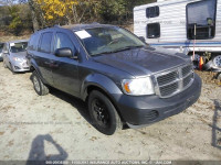
[[64,48],[57,48],[55,51],[55,56],[57,57],[70,57],[77,59],[76,51],[73,53],[71,48],[64,47]]

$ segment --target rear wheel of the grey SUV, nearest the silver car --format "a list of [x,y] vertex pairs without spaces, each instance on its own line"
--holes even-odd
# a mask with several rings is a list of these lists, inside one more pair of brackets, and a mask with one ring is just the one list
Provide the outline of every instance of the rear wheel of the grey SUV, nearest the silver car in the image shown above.
[[32,78],[34,90],[36,91],[39,96],[45,96],[49,94],[49,88],[42,82],[36,72],[32,73],[31,78]]

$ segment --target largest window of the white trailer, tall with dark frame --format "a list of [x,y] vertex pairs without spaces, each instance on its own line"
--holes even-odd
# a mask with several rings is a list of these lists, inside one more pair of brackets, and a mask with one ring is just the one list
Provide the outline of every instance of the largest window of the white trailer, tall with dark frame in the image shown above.
[[[187,6],[187,37],[207,40],[215,35],[217,0],[203,0]],[[196,32],[196,36],[194,36]]]

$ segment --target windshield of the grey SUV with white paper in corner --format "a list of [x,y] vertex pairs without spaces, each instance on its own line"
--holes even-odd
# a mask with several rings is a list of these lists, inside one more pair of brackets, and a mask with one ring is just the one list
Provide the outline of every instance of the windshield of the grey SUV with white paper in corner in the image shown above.
[[75,32],[91,56],[146,46],[137,36],[120,28],[95,28]]

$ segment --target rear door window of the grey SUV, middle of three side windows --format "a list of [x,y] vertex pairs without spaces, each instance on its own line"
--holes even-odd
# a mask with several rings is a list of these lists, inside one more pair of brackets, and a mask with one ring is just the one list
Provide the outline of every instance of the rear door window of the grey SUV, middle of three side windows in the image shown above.
[[53,33],[51,33],[51,32],[42,34],[41,44],[40,44],[40,47],[39,47],[40,52],[43,52],[43,53],[50,53],[51,52],[52,35],[53,35]]

